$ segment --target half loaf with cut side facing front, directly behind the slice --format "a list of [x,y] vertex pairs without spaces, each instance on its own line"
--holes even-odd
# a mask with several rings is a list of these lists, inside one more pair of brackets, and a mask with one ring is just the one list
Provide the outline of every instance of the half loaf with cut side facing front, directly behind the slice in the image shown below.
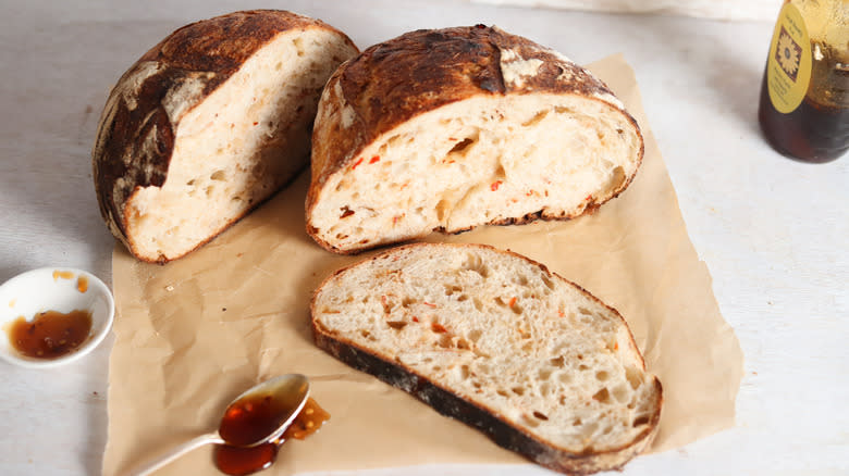
[[307,231],[353,253],[432,230],[566,220],[616,197],[640,129],[587,70],[495,27],[418,30],[330,78]]

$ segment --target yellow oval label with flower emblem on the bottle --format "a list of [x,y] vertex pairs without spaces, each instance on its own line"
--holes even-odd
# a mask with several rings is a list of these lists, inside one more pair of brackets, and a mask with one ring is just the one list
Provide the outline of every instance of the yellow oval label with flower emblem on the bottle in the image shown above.
[[811,41],[799,9],[786,3],[775,22],[766,60],[766,86],[776,111],[787,114],[802,103],[811,82]]

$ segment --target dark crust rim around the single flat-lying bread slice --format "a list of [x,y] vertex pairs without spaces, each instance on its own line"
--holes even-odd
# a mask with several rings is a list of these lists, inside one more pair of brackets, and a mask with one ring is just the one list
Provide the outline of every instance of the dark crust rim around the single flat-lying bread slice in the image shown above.
[[[586,475],[601,471],[620,469],[633,456],[649,448],[659,429],[661,406],[663,403],[663,387],[656,377],[653,379],[655,387],[654,394],[657,399],[654,405],[656,410],[652,414],[648,428],[644,431],[642,431],[629,444],[622,448],[606,451],[574,453],[538,440],[533,435],[526,433],[522,428],[514,426],[506,419],[502,418],[502,416],[494,410],[465,400],[460,396],[452,392],[451,389],[419,375],[414,369],[406,367],[389,355],[381,355],[369,349],[358,346],[355,342],[345,339],[344,337],[334,336],[332,331],[323,328],[321,324],[317,322],[317,313],[315,308],[316,299],[324,286],[327,286],[336,275],[344,273],[355,266],[365,266],[372,261],[386,259],[397,253],[404,253],[413,247],[487,248],[500,253],[509,254],[526,260],[529,263],[539,266],[549,276],[561,279],[574,286],[588,299],[598,302],[613,312],[622,321],[625,328],[628,329],[631,345],[633,346],[633,349],[637,350],[637,345],[633,341],[633,335],[631,334],[630,328],[618,311],[605,304],[582,287],[568,279],[565,279],[556,273],[552,273],[544,264],[536,262],[521,254],[512,252],[509,250],[499,250],[488,245],[464,243],[415,243],[397,247],[368,260],[337,270],[335,273],[330,275],[327,279],[324,279],[321,286],[316,289],[310,302],[310,321],[312,324],[312,333],[316,345],[319,348],[325,350],[328,353],[346,363],[347,365],[350,365],[352,367],[361,372],[371,374],[384,383],[415,396],[422,402],[432,406],[439,413],[458,419],[481,430],[500,447],[515,451],[533,461],[534,463],[545,466],[550,469],[574,475]],[[642,355],[638,350],[636,353],[640,356],[640,364],[642,368],[645,369],[645,363],[642,360]]]

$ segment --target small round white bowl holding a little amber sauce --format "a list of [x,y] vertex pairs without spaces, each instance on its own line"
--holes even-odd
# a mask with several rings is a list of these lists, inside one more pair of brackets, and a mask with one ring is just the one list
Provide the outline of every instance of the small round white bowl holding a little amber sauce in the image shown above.
[[[77,279],[88,281],[85,292]],[[91,312],[88,340],[57,359],[35,359],[17,352],[9,340],[11,322],[20,316],[27,321],[40,312]],[[42,267],[20,274],[0,286],[0,358],[24,367],[53,367],[75,361],[91,352],[107,336],[115,315],[115,303],[107,285],[97,276],[69,267]]]

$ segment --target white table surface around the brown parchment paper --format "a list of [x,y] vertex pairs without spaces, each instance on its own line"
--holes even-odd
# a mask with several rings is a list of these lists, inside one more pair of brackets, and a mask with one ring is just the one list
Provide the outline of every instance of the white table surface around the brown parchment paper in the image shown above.
[[[849,474],[849,158],[803,164],[762,140],[755,114],[771,23],[459,0],[172,3],[0,0],[0,281],[57,265],[111,281],[114,241],[91,183],[96,122],[123,71],[188,21],[281,8],[322,18],[364,48],[410,29],[485,23],[579,63],[623,52],[746,353],[735,428],[638,458],[624,474]],[[51,371],[0,363],[1,475],[100,474],[110,347],[107,339]],[[368,474],[549,473],[527,465]]]

